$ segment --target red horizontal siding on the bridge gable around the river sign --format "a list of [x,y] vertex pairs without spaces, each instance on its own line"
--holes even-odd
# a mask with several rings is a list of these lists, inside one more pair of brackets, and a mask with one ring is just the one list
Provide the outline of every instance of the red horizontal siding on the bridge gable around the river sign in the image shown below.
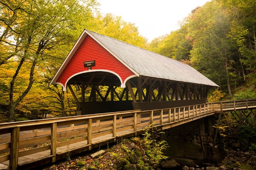
[[134,75],[131,70],[104,49],[97,41],[87,35],[61,73],[57,82],[65,86],[66,81],[73,74],[87,71],[88,68],[84,67],[84,62],[92,60],[95,60],[95,66],[92,66],[91,70],[104,69],[113,71],[121,77],[123,82],[127,77]]

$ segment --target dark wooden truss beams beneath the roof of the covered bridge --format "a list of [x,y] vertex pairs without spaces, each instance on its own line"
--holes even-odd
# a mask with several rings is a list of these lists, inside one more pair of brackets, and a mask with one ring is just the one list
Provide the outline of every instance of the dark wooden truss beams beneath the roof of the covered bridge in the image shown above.
[[[77,97],[72,86],[76,88],[76,91],[81,91],[81,97]],[[100,86],[107,86],[108,90],[103,94],[99,89]],[[209,90],[209,86],[152,77],[132,78],[126,82],[126,88],[123,88],[122,92],[120,89],[119,92],[116,91],[119,86],[120,82],[113,74],[103,73],[80,75],[68,83],[76,102],[127,101],[129,99],[132,99],[133,102],[207,99]],[[88,92],[90,93],[89,98],[85,98],[85,94]]]

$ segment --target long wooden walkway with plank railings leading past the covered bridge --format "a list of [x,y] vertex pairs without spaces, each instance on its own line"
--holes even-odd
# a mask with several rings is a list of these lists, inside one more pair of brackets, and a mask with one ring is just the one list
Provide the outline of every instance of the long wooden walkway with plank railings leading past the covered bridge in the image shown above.
[[[246,103],[245,107],[248,109],[253,103],[254,108],[256,107],[256,99],[246,100]],[[218,112],[219,106],[224,105],[218,102],[152,111],[137,110],[2,123],[0,163],[12,169],[34,168],[65,158],[68,154],[81,153],[142,134],[145,127],[168,129],[210,116],[215,111]],[[226,108],[221,111],[224,109]]]

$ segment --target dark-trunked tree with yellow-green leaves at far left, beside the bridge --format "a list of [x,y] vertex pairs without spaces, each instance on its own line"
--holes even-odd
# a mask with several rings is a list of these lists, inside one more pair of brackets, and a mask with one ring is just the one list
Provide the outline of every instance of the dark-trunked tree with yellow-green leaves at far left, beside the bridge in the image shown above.
[[[0,64],[9,63],[13,58],[15,62],[15,73],[9,84],[5,84],[9,90],[9,119],[14,121],[15,108],[25,98],[31,89],[35,79],[34,73],[42,63],[49,63],[56,58],[54,52],[61,50],[63,44],[74,43],[77,38],[78,28],[81,23],[80,16],[93,17],[92,10],[97,5],[95,0],[83,1],[81,5],[78,0],[24,0],[0,2],[1,29],[0,46],[7,53],[1,57]],[[79,33],[81,33],[80,31]],[[57,49],[58,48],[58,49]],[[62,54],[63,55],[63,54]],[[24,64],[29,71],[26,86],[15,93],[17,79]],[[43,74],[43,73],[42,73]]]

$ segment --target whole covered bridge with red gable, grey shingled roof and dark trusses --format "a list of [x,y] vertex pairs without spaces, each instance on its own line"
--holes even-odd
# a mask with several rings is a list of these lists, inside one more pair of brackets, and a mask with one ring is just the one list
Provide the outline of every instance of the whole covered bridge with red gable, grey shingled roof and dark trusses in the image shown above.
[[79,115],[203,104],[218,87],[187,64],[89,30],[51,84],[70,89]]

